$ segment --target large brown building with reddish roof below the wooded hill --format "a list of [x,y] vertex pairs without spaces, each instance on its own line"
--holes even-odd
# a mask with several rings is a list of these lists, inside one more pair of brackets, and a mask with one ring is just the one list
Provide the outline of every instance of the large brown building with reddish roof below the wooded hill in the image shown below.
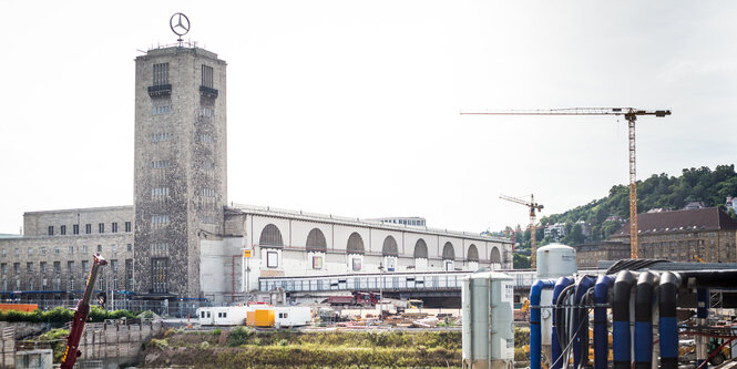
[[[641,258],[673,262],[737,262],[737,222],[717,207],[637,215]],[[629,224],[610,236],[629,244]]]

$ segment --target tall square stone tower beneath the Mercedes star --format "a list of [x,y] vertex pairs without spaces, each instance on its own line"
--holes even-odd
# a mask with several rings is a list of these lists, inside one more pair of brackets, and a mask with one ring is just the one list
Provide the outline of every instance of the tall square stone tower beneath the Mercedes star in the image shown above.
[[135,291],[199,297],[199,239],[222,234],[226,63],[196,47],[135,59]]

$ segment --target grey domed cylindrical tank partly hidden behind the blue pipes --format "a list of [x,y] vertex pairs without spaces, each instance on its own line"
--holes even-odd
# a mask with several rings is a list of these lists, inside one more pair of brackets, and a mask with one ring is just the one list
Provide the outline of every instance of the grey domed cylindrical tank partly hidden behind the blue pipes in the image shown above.
[[[538,248],[538,279],[557,279],[579,273],[576,250],[563,244],[550,244]],[[553,305],[553,290],[543,289],[540,294],[540,305]],[[550,351],[551,335],[553,334],[553,311],[551,308],[540,309],[540,332],[542,335],[543,351]]]

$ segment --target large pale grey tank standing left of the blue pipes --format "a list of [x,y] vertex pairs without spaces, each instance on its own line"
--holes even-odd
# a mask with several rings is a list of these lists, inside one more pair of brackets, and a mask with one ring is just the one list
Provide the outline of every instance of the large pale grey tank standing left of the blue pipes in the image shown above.
[[513,367],[512,280],[498,271],[479,271],[463,278],[463,368]]

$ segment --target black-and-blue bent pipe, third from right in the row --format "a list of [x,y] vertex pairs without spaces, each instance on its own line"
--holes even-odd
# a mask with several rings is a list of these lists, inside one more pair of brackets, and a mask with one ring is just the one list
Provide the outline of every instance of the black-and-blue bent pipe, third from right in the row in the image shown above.
[[614,369],[629,369],[632,340],[629,338],[629,294],[635,285],[635,274],[622,270],[614,281],[614,296],[612,298],[612,338],[614,345]]

